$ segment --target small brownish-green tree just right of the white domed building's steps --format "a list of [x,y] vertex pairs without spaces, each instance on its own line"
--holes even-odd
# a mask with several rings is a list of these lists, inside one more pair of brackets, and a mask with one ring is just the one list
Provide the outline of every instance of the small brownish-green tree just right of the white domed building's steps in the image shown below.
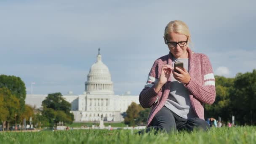
[[139,117],[139,112],[143,110],[143,108],[136,104],[135,102],[132,102],[131,105],[126,110],[126,117],[125,117],[125,124],[128,125],[135,125],[135,121]]

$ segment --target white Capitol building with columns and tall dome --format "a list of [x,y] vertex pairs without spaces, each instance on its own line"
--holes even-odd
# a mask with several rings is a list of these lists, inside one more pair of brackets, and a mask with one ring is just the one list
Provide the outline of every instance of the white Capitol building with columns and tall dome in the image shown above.
[[[47,95],[27,94],[26,104],[42,107],[42,101]],[[100,49],[97,61],[91,66],[85,82],[85,90],[81,95],[73,95],[69,91],[63,96],[71,104],[71,112],[75,122],[83,121],[123,121],[123,112],[135,102],[139,104],[139,96],[131,96],[129,92],[124,95],[115,95],[113,82],[108,67],[101,61]]]

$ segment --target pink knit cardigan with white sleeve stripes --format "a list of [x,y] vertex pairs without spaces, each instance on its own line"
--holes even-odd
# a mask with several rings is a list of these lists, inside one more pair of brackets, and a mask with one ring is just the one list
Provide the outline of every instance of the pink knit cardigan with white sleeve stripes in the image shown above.
[[[203,103],[213,104],[215,101],[215,79],[213,69],[208,57],[202,53],[193,53],[187,48],[189,53],[189,75],[191,80],[185,87],[190,92],[189,98],[196,115],[204,119]],[[171,77],[157,93],[155,83],[161,74],[161,68],[165,64],[172,64],[171,52],[155,60],[148,76],[147,84],[139,95],[139,102],[144,108],[151,108],[147,120],[147,126],[151,123],[155,114],[164,106],[170,93]]]

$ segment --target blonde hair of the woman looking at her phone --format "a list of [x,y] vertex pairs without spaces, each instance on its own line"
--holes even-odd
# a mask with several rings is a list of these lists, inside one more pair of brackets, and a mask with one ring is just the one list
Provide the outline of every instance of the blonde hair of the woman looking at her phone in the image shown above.
[[183,21],[170,21],[165,27],[165,39],[167,39],[168,34],[174,32],[177,34],[182,34],[187,36],[187,41],[191,42],[191,35],[189,32],[189,27]]

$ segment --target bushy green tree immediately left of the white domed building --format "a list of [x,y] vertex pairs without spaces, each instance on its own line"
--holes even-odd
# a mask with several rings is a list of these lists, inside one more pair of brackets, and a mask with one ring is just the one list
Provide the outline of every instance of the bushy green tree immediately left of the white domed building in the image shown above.
[[74,115],[70,113],[71,104],[62,98],[61,93],[48,94],[42,105],[42,115],[48,119],[51,126],[60,121],[69,124],[74,121]]

